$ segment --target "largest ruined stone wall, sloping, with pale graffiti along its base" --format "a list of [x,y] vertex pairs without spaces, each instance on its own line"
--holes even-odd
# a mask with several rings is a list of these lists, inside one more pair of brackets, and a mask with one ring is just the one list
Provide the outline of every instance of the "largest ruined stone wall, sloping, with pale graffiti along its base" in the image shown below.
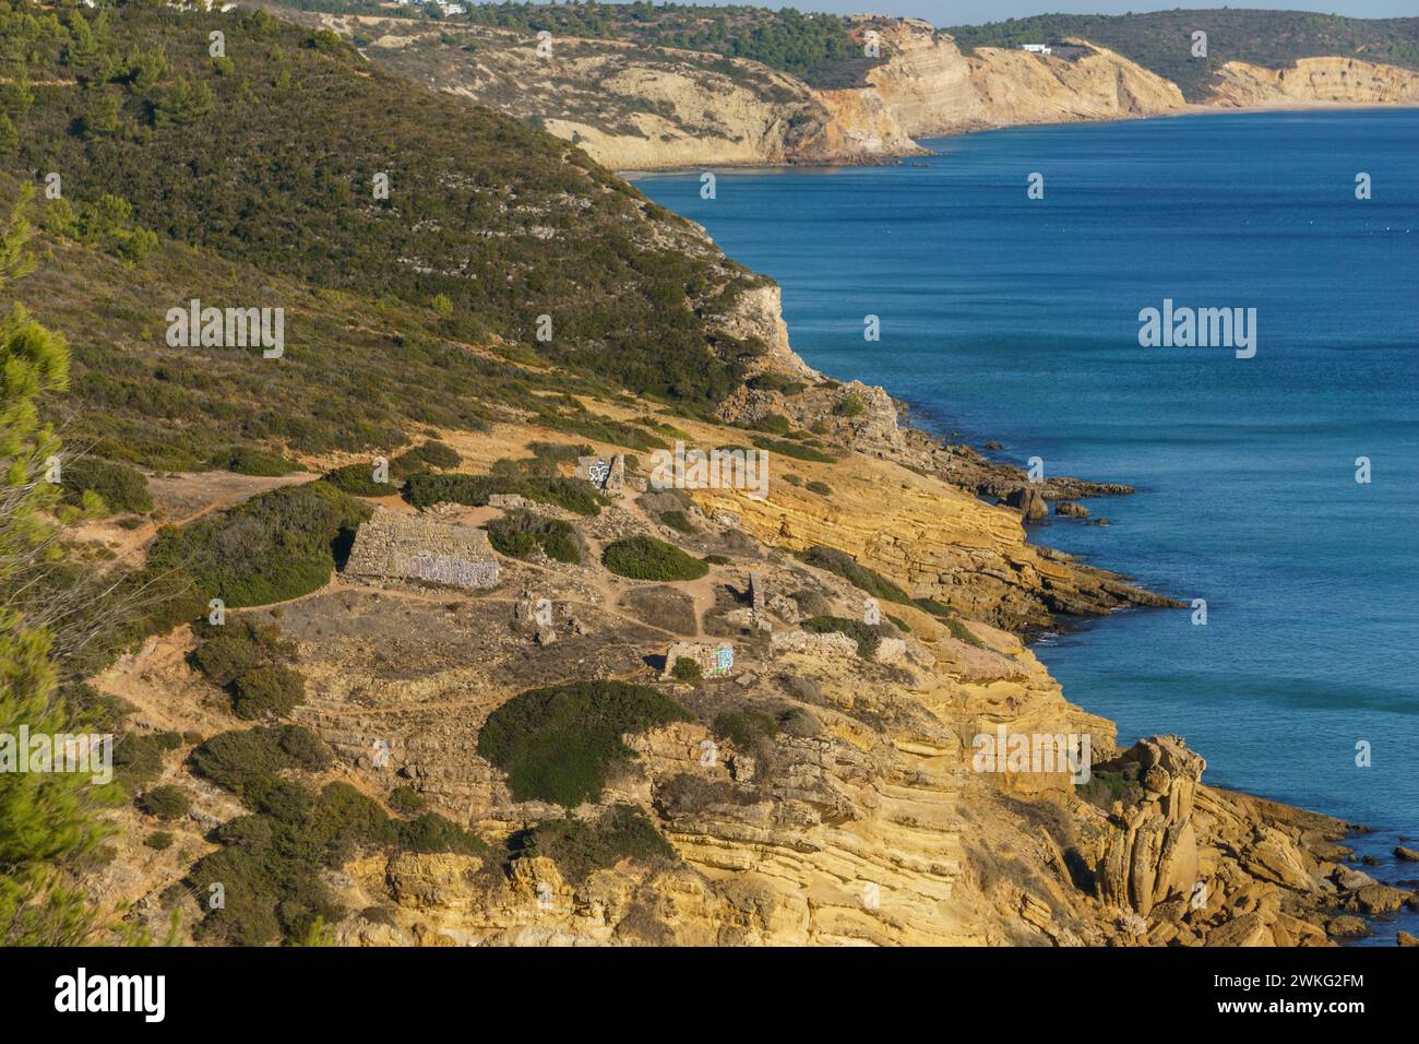
[[376,509],[355,534],[345,575],[490,588],[498,560],[482,530]]

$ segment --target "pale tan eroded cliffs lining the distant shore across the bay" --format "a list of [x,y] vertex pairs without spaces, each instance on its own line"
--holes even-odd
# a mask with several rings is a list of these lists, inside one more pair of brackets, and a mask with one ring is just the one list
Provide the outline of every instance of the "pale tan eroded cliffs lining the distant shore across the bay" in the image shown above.
[[873,163],[921,152],[915,139],[1020,124],[1132,119],[1236,108],[1416,105],[1419,72],[1354,57],[1290,68],[1227,62],[1212,95],[1088,40],[1051,54],[981,47],[917,18],[861,16],[884,61],[866,85],[816,89],[742,58],[610,40],[559,38],[539,54],[525,33],[375,16],[282,17],[359,36],[372,61],[423,85],[532,119],[606,166]]

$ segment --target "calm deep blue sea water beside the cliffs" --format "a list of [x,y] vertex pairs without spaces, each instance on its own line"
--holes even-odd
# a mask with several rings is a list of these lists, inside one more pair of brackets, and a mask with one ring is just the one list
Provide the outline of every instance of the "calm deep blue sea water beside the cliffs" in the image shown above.
[[[1208,624],[1138,611],[1047,638],[1066,695],[1121,741],[1186,737],[1210,783],[1374,825],[1371,872],[1419,878],[1389,855],[1419,838],[1419,112],[927,143],[902,166],[717,172],[712,200],[698,175],[637,183],[782,284],[813,366],[1016,463],[1137,486],[1088,501],[1111,526],[1033,538],[1205,598]],[[1139,347],[1164,298],[1256,308],[1256,357]]]

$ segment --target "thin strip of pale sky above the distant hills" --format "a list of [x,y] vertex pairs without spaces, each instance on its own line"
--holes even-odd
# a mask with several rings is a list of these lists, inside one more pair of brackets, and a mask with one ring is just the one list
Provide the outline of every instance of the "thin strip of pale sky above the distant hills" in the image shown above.
[[[705,0],[712,1],[712,0]],[[973,26],[983,21],[1023,18],[1032,14],[1124,14],[1125,11],[1162,11],[1178,7],[1242,7],[1283,11],[1320,11],[1345,14],[1352,18],[1402,18],[1419,14],[1416,0],[739,0],[763,7],[797,7],[800,11],[834,11],[837,14],[911,14],[934,26]]]

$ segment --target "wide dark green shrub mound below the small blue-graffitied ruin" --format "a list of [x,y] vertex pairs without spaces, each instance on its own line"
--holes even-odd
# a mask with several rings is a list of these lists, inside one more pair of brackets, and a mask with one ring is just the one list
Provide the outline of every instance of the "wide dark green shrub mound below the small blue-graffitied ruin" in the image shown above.
[[626,682],[572,682],[518,693],[478,733],[478,754],[508,774],[517,801],[572,808],[600,797],[607,774],[631,757],[622,736],[690,712],[668,696]]

